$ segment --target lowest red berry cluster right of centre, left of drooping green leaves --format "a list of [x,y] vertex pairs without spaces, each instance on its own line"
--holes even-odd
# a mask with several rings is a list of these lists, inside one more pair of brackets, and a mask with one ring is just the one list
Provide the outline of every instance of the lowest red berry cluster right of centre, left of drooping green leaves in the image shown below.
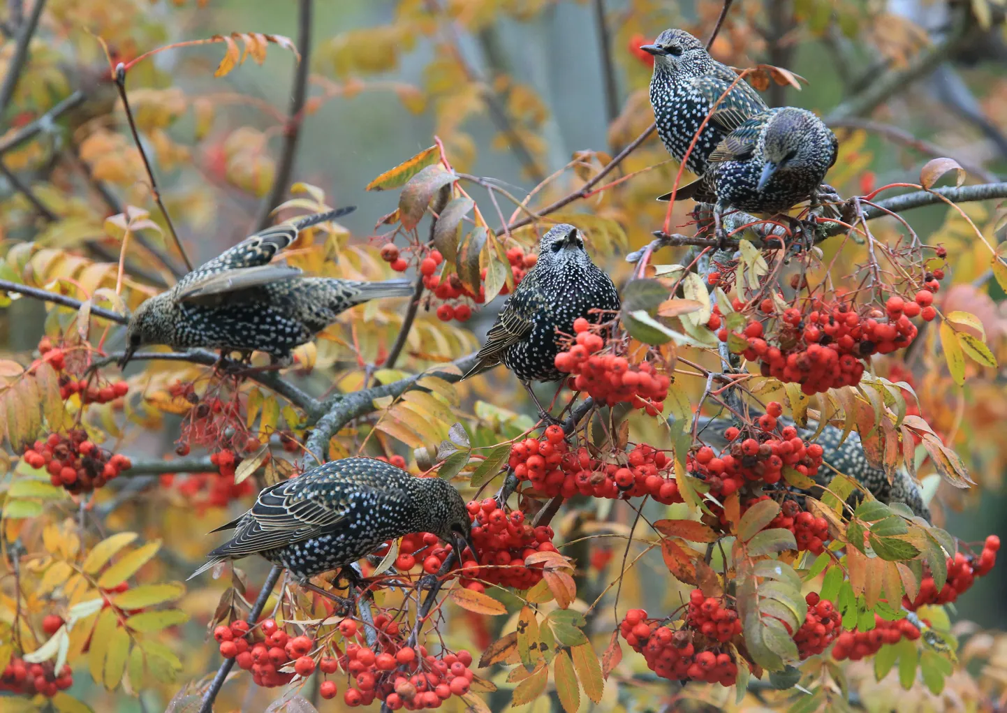
[[729,654],[718,652],[718,645],[697,651],[693,632],[673,630],[648,619],[643,609],[629,609],[619,623],[619,631],[634,651],[643,655],[646,666],[670,681],[700,681],[733,686],[738,666]]

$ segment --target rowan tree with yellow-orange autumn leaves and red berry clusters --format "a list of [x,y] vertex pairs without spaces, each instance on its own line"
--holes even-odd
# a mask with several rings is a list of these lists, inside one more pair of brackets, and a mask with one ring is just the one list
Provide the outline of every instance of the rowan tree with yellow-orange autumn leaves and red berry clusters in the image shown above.
[[[0,707],[998,709],[1005,639],[955,601],[1000,540],[945,526],[1007,456],[987,167],[1007,83],[983,75],[965,113],[922,88],[940,66],[965,91],[1001,4],[923,4],[948,13],[931,37],[855,0],[403,0],[319,36],[322,5],[291,3],[293,38],[201,33],[204,1],[8,6]],[[722,240],[708,204],[655,200],[691,180],[639,49],[666,27],[824,118],[835,215],[732,213]],[[572,155],[570,107],[511,65],[547,34],[576,55],[557,70],[600,67],[576,113],[602,107],[607,136]],[[267,62],[292,65],[288,106],[247,90]],[[376,122],[365,92],[432,121],[429,148],[333,167],[354,186],[333,194],[298,167],[303,128],[334,103]],[[193,265],[364,191],[383,210],[303,231],[287,263],[405,275],[413,298],[342,313],[289,367],[156,346],[117,366],[129,315]],[[557,335],[548,423],[506,370],[461,378],[562,223],[622,306]],[[359,586],[256,558],[183,581],[261,488],[357,455],[453,483],[476,551],[417,532]]]

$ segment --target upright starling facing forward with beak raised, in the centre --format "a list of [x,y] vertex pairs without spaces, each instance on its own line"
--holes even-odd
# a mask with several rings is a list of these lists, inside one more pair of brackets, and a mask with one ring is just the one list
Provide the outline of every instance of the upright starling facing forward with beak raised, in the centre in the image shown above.
[[566,375],[556,369],[558,332],[572,334],[577,317],[606,320],[620,304],[611,278],[584,250],[580,232],[555,226],[542,236],[539,261],[503,303],[465,377],[502,363],[526,388],[532,381],[559,381]]

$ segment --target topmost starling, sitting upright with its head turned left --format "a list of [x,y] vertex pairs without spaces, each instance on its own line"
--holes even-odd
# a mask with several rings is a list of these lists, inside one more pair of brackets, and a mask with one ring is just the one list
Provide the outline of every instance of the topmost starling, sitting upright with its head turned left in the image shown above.
[[[686,161],[686,168],[701,176],[717,144],[749,117],[765,111],[765,103],[748,83],[710,56],[703,43],[685,30],[667,29],[654,44],[640,49],[655,58],[651,104],[658,136],[672,156],[682,160],[703,120],[711,115]],[[719,104],[712,109],[717,100]]]

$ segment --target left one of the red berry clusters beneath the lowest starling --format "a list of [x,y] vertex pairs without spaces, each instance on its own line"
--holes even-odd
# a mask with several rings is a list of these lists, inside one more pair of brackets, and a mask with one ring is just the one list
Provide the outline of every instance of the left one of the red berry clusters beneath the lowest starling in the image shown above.
[[[303,634],[291,636],[274,619],[263,619],[258,630],[263,638],[250,643],[248,622],[238,619],[230,626],[221,624],[214,628],[213,638],[221,645],[221,656],[234,659],[239,667],[251,671],[257,686],[284,686],[295,675],[307,678],[314,673],[314,659],[308,656],[314,639]],[[331,664],[322,659],[322,670],[331,669],[326,673],[335,673],[335,660],[328,661]]]

